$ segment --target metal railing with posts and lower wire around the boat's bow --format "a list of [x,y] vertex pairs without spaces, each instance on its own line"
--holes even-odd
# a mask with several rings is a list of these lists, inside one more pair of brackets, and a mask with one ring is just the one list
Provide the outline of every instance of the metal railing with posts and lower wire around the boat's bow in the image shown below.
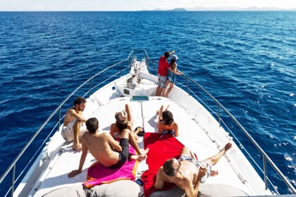
[[[61,120],[63,120],[63,117],[61,117],[61,108],[65,105],[65,103],[69,100],[69,98],[71,98],[78,90],[82,89],[82,87],[84,87],[87,83],[90,83],[90,88],[88,89],[88,91],[84,94],[84,96],[86,96],[88,94],[88,96],[90,96],[92,94],[92,90],[94,89],[98,89],[101,84],[104,84],[106,82],[111,81],[111,79],[113,77],[116,77],[118,75],[118,78],[121,77],[122,72],[124,70],[126,70],[127,72],[130,70],[130,66],[132,65],[132,62],[134,60],[135,57],[137,57],[137,53],[142,53],[142,57],[144,57],[146,63],[147,63],[147,69],[149,70],[150,73],[152,73],[152,70],[150,68],[150,64],[152,63],[153,67],[154,67],[154,72],[156,72],[156,68],[154,63],[156,63],[156,61],[153,61],[151,59],[149,59],[149,56],[147,55],[147,52],[143,49],[136,49],[130,52],[130,55],[128,56],[128,58],[126,58],[123,61],[120,61],[116,64],[113,64],[111,66],[109,66],[108,68],[105,68],[104,70],[101,70],[100,72],[98,72],[96,75],[90,77],[90,79],[86,80],[85,82],[83,82],[78,88],[76,88],[71,94],[68,95],[68,97],[56,108],[56,110],[54,110],[53,113],[51,113],[51,115],[49,115],[49,117],[47,118],[47,120],[45,120],[45,122],[42,124],[41,127],[39,127],[39,129],[37,130],[37,132],[35,132],[35,134],[32,136],[32,138],[30,139],[30,141],[27,142],[27,144],[25,145],[25,147],[22,149],[22,151],[20,151],[20,153],[16,156],[15,160],[13,160],[13,162],[11,163],[11,165],[9,165],[9,167],[6,169],[6,171],[4,172],[4,174],[2,174],[1,178],[0,178],[0,184],[4,181],[4,179],[6,178],[6,176],[8,175],[9,172],[11,172],[12,170],[12,180],[11,180],[11,187],[8,190],[8,192],[11,192],[11,196],[13,196],[13,191],[14,191],[14,187],[15,187],[15,183],[16,181],[20,178],[20,175],[23,174],[23,172],[18,176],[17,179],[15,179],[15,174],[16,174],[16,163],[18,162],[18,160],[20,159],[20,157],[25,153],[25,151],[27,150],[27,148],[32,144],[32,141],[34,141],[36,139],[36,136],[42,131],[42,129],[44,129],[44,127],[49,123],[49,120],[51,120],[52,117],[54,117],[54,115],[56,115],[56,113],[58,113],[58,122],[56,123],[56,125],[54,126],[54,129],[51,130],[51,132],[49,133],[49,135],[47,136],[47,138],[44,140],[47,141],[47,139],[49,138],[49,136],[51,135],[51,133],[56,129],[56,127],[60,127],[61,126]],[[101,76],[101,73],[106,72],[107,70],[110,70],[111,68],[115,68],[116,66],[118,66],[118,72],[116,72],[114,75],[111,75],[110,77],[107,77],[106,80],[99,82],[97,85],[94,85],[94,78]],[[106,76],[106,75],[105,75]],[[268,189],[268,182],[267,182],[267,170],[266,170],[266,162],[268,162],[273,169],[276,171],[276,173],[281,177],[281,179],[283,179],[283,182],[285,182],[285,184],[287,184],[288,188],[293,192],[296,193],[296,190],[294,189],[294,187],[292,186],[292,184],[290,184],[290,182],[288,181],[288,179],[285,178],[285,176],[283,175],[282,172],[280,172],[280,170],[278,169],[278,167],[276,167],[276,165],[273,163],[273,161],[269,158],[269,156],[263,151],[263,149],[259,146],[259,144],[257,144],[256,141],[254,141],[254,139],[252,138],[251,135],[249,135],[249,133],[245,130],[244,127],[242,127],[242,125],[240,125],[240,123],[238,122],[238,120],[235,119],[235,117],[233,117],[233,115],[231,115],[228,110],[226,110],[226,108],[224,108],[221,103],[219,103],[216,98],[214,98],[214,96],[211,96],[211,94],[209,94],[208,91],[206,91],[201,85],[199,85],[197,82],[195,82],[194,80],[192,80],[190,77],[187,77],[187,75],[183,75],[183,77],[185,77],[185,84],[183,84],[183,87],[185,87],[185,89],[187,90],[188,94],[192,94],[193,96],[197,97],[197,95],[189,88],[189,83],[188,82],[192,82],[195,87],[199,87],[199,89],[202,89],[202,91],[206,94],[206,96],[209,96],[209,98],[211,98],[212,101],[214,101],[214,103],[216,103],[217,106],[217,117],[218,117],[218,122],[219,125],[221,126],[221,122],[223,122],[223,120],[221,119],[221,112],[220,110],[222,109],[227,115],[228,117],[231,118],[231,120],[233,120],[233,122],[235,122],[236,125],[238,125],[238,127],[242,130],[242,132],[244,132],[244,134],[248,137],[248,139],[250,141],[252,141],[252,144],[254,144],[254,146],[258,149],[258,151],[261,153],[261,155],[263,155],[263,163],[264,163],[264,182],[265,182],[265,187],[266,189]],[[84,97],[83,96],[83,97]],[[227,127],[227,126],[226,126]],[[42,144],[42,146],[44,145],[44,142]],[[42,146],[40,146],[39,148],[42,148]],[[36,154],[36,153],[35,153]],[[32,159],[30,160],[30,162],[26,165],[28,166],[30,163],[32,162]],[[7,195],[7,193],[6,193]]]

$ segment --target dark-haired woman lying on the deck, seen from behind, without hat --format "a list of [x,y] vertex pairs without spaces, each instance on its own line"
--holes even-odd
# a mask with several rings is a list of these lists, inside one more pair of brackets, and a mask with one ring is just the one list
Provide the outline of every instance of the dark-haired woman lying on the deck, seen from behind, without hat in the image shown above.
[[159,123],[157,127],[159,129],[159,134],[172,134],[173,136],[178,136],[178,124],[173,120],[173,114],[168,110],[170,106],[167,106],[164,110],[164,106],[158,111]]

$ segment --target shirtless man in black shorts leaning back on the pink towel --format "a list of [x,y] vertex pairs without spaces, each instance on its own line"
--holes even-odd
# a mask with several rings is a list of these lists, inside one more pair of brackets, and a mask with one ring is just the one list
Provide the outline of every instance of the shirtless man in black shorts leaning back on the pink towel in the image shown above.
[[[121,141],[115,141],[109,133],[99,134],[99,121],[96,117],[92,117],[85,123],[88,132],[82,135],[82,155],[78,170],[73,170],[68,174],[68,177],[75,177],[82,171],[85,158],[87,156],[87,150],[90,151],[92,156],[99,161],[102,165],[110,168],[119,168],[125,164],[128,158],[132,160],[144,160],[147,158],[147,152],[149,149],[144,150],[142,153],[137,141],[135,141],[132,132],[129,129],[124,129],[121,134]],[[135,151],[139,155],[130,155],[129,143],[135,148]]]

